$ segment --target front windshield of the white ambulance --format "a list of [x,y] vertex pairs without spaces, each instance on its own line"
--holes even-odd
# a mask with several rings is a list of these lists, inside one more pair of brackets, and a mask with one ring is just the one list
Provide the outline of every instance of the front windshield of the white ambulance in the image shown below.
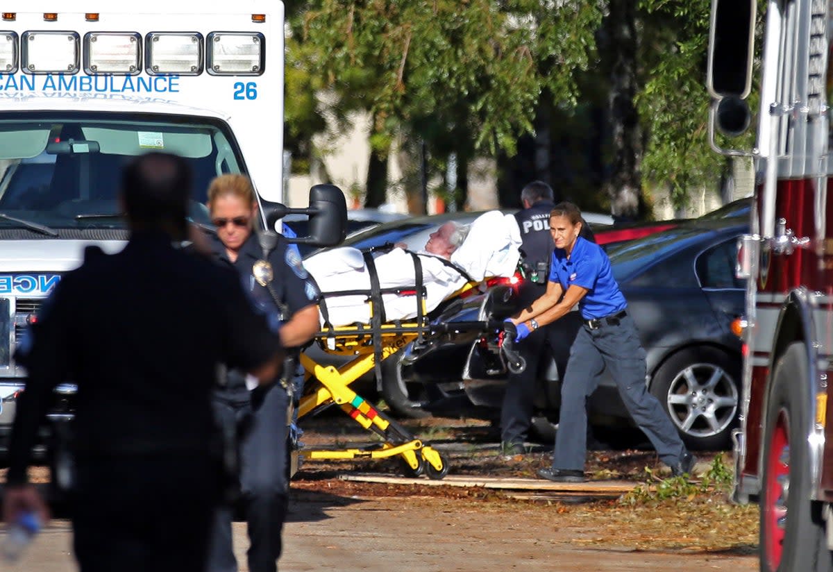
[[122,167],[146,152],[191,164],[191,216],[207,223],[208,183],[245,172],[227,126],[208,118],[93,112],[0,113],[0,228],[124,228]]

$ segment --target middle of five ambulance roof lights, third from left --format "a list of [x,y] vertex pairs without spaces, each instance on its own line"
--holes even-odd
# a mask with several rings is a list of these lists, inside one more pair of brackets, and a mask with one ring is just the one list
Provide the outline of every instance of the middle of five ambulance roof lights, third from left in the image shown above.
[[142,36],[137,32],[88,32],[84,72],[134,76],[142,71]]

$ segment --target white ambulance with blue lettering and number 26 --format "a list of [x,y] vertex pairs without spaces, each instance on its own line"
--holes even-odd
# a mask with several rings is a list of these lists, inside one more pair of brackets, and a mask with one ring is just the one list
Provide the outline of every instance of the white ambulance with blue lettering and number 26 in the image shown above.
[[[125,162],[187,157],[197,222],[208,223],[207,185],[221,173],[247,173],[262,200],[281,201],[284,62],[275,0],[2,9],[0,456],[25,375],[13,357],[22,329],[84,246],[117,251],[127,239],[116,194]],[[58,387],[52,418],[68,413],[73,390]]]

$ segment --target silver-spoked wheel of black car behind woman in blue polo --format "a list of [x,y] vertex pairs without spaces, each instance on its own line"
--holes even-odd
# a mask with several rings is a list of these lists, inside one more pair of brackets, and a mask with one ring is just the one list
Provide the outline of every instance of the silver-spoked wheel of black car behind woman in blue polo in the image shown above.
[[689,449],[725,450],[740,412],[740,358],[713,347],[671,356],[651,381],[655,395]]

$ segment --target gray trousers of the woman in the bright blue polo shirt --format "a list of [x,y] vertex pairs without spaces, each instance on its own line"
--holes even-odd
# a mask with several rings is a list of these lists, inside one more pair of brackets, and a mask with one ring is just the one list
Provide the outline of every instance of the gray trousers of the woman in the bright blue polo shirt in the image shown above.
[[596,330],[582,326],[572,343],[561,385],[561,413],[552,466],[584,470],[587,448],[585,402],[596,390],[596,374],[602,366],[616,381],[628,413],[654,445],[662,462],[676,465],[686,453],[686,447],[659,400],[646,390],[645,349],[631,316],[625,316],[618,326],[603,324]]

